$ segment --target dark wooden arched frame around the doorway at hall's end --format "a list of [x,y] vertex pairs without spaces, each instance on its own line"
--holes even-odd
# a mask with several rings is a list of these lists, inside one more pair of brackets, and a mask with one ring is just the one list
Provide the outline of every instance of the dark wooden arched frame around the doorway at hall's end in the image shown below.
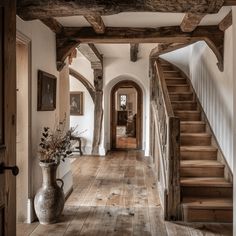
[[115,84],[111,90],[111,106],[110,106],[110,142],[111,149],[121,149],[116,147],[116,112],[115,112],[115,93],[120,87],[134,87],[137,91],[137,116],[136,116],[136,139],[137,148],[142,149],[142,136],[143,136],[143,92],[140,86],[132,80],[122,80]]

